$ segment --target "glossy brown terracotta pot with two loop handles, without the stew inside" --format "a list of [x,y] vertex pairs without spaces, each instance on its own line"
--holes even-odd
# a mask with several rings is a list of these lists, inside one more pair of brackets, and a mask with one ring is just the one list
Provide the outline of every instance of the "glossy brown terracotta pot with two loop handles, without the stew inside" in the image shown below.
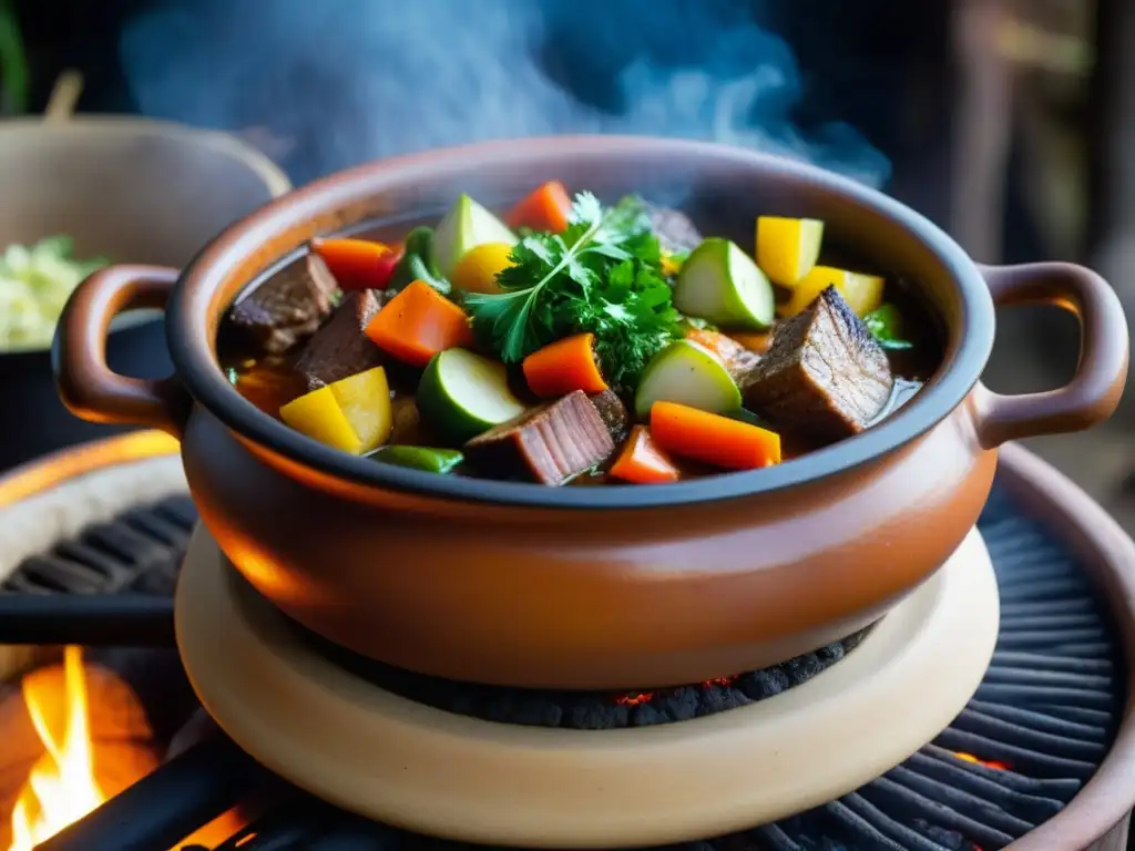
[[[917,279],[945,329],[942,368],[876,428],[777,467],[562,489],[342,454],[260,413],[218,368],[226,306],[309,237],[434,214],[461,191],[503,204],[552,177],[604,196],[644,191],[686,202],[707,230],[746,244],[759,212],[824,219],[830,238],[864,262]],[[1079,317],[1076,376],[1051,393],[993,394],[977,379],[994,304],[1037,301]],[[108,323],[135,304],[166,304],[175,377],[138,381],[107,368]],[[261,593],[310,629],[445,677],[624,688],[762,667],[877,618],[973,526],[1000,444],[1083,429],[1112,412],[1127,349],[1118,301],[1085,269],[980,269],[901,204],[750,151],[580,137],[364,166],[269,204],[180,276],[103,271],[68,305],[57,376],[77,414],[179,437],[209,530]]]

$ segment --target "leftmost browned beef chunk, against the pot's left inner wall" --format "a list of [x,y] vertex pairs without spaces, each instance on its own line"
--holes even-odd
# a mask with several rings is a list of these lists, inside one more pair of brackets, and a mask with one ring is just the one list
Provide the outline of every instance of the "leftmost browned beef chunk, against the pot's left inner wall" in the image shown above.
[[233,305],[229,320],[262,353],[283,354],[319,329],[337,290],[323,261],[306,254]]

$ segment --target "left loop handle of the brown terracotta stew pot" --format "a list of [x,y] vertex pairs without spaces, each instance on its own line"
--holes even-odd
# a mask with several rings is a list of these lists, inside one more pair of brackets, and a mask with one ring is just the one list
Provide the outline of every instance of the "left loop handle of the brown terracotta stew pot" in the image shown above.
[[107,365],[111,320],[126,310],[165,307],[178,275],[161,266],[111,266],[78,285],[51,349],[59,397],[73,414],[182,436],[191,398],[176,378],[128,378]]

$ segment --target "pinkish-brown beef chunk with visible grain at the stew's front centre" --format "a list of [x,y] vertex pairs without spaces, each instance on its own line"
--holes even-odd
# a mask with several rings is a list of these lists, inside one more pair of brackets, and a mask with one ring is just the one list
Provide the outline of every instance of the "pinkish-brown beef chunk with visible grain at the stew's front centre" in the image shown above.
[[615,443],[582,390],[526,411],[465,444],[465,460],[484,475],[522,475],[563,485],[607,460]]

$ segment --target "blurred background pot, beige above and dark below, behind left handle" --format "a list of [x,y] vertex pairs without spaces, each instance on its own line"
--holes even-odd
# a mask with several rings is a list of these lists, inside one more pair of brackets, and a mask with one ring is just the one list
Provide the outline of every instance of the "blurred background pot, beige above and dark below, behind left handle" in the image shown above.
[[[221,229],[291,188],[258,151],[210,130],[136,118],[0,123],[0,250],[67,234],[76,256],[180,268]],[[121,317],[108,359],[169,371],[157,313]],[[0,351],[0,470],[121,428],[69,415],[48,346]]]

